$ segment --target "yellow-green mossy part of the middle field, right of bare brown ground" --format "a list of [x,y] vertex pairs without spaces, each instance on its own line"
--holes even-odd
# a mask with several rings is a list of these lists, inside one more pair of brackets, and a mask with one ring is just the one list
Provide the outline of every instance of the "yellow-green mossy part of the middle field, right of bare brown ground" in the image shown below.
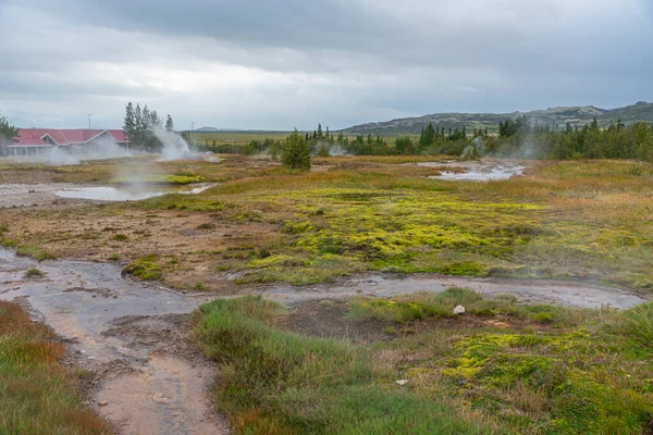
[[[200,197],[153,198],[140,207],[209,207],[215,219],[275,225],[270,240],[242,244],[239,261],[220,262],[241,271],[244,283],[308,284],[375,270],[653,288],[650,166],[559,163],[527,178],[484,184],[424,178],[432,171],[276,171]],[[222,259],[234,260],[237,248]]]

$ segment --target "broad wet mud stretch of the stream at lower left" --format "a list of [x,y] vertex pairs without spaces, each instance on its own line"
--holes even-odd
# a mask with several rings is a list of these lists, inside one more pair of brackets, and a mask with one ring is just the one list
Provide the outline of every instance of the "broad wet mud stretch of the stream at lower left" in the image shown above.
[[[24,278],[38,268],[45,277]],[[27,301],[96,374],[93,403],[121,434],[224,434],[207,390],[215,368],[187,339],[186,313],[209,297],[121,277],[112,264],[37,263],[0,251],[0,298]]]

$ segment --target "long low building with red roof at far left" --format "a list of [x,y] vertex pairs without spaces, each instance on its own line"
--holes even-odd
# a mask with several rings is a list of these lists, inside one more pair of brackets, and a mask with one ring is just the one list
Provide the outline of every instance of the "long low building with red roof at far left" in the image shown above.
[[101,149],[107,140],[125,148],[130,146],[122,129],[19,128],[14,142],[0,148],[0,154],[42,154],[54,147],[63,147],[72,152],[88,152]]

